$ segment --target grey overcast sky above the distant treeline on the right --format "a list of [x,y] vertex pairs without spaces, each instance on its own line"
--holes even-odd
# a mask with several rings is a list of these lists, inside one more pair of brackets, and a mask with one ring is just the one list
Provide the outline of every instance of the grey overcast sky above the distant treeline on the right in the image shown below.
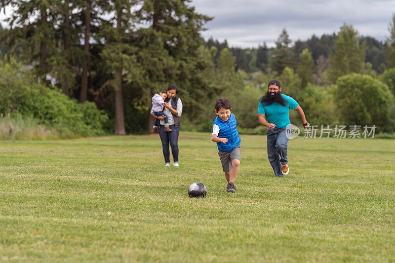
[[228,40],[230,46],[274,46],[286,28],[292,41],[313,34],[339,32],[352,24],[361,36],[389,37],[395,0],[193,0],[201,14],[214,17],[202,32],[205,39]]

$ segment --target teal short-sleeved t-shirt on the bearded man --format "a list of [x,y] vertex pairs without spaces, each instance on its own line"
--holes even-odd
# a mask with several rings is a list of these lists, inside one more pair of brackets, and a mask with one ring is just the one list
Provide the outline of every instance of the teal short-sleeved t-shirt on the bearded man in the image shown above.
[[258,113],[265,114],[269,123],[276,124],[275,129],[285,128],[291,124],[289,121],[289,109],[295,110],[298,107],[298,103],[293,98],[284,94],[281,94],[281,96],[285,99],[285,106],[278,102],[274,102],[269,106],[263,105],[262,102],[258,103]]

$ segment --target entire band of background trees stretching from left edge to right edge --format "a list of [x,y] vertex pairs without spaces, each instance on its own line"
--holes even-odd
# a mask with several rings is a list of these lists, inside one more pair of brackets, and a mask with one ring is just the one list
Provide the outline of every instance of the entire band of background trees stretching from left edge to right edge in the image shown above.
[[[344,120],[337,109],[353,105],[339,104],[336,96],[342,94],[339,87],[349,83],[339,82],[344,75],[368,85],[380,81],[381,89],[394,92],[395,16],[385,44],[361,38],[351,25],[344,25],[338,34],[294,45],[284,29],[275,48],[264,44],[241,49],[228,48],[226,41],[204,42],[199,32],[211,18],[198,14],[189,0],[0,1],[0,8],[8,5],[15,12],[7,21],[10,27],[0,29],[2,52],[33,67],[48,88],[79,102],[94,101],[120,135],[151,127],[151,97],[170,83],[180,87],[183,126],[201,131],[211,128],[213,104],[220,96],[231,99],[240,128],[259,128],[257,102],[271,78],[279,79],[284,93],[306,105],[308,116],[322,124]],[[375,45],[379,51],[370,48]],[[375,52],[383,58],[372,55]],[[373,65],[382,65],[383,74]],[[393,100],[391,92],[377,94]],[[382,105],[389,118],[393,103],[386,100]],[[347,110],[349,116],[355,112]],[[391,125],[382,131],[394,130]]]

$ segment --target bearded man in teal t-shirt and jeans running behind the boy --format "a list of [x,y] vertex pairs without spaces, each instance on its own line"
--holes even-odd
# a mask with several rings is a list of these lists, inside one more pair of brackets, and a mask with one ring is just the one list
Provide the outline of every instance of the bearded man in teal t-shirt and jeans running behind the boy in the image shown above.
[[270,81],[268,91],[260,99],[258,106],[259,122],[263,126],[268,127],[268,158],[276,176],[284,176],[289,173],[287,159],[289,137],[286,134],[286,127],[291,124],[289,121],[289,109],[298,112],[304,128],[310,126],[302,108],[293,98],[281,94],[281,89],[278,80]]

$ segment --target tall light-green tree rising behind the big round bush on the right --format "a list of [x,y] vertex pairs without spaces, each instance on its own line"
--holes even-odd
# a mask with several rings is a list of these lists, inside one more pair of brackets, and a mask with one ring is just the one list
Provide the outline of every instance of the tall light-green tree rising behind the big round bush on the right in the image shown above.
[[334,83],[339,76],[361,73],[365,62],[365,43],[360,43],[358,32],[352,25],[343,25],[329,56],[327,80]]

